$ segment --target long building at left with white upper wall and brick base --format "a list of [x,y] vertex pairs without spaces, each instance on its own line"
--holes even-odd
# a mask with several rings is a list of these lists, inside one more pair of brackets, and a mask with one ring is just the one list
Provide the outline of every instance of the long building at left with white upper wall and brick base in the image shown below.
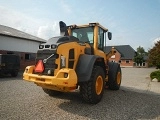
[[46,40],[0,25],[0,54],[17,54],[20,57],[20,69],[35,64],[36,52],[40,43]]

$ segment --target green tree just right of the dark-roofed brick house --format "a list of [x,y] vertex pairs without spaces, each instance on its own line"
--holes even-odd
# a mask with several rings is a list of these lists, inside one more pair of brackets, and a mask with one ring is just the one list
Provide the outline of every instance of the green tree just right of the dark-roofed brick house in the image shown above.
[[146,56],[146,55],[147,55],[147,53],[145,52],[144,48],[139,46],[137,48],[136,55],[134,57],[134,62],[142,65],[142,63],[145,61],[144,56]]

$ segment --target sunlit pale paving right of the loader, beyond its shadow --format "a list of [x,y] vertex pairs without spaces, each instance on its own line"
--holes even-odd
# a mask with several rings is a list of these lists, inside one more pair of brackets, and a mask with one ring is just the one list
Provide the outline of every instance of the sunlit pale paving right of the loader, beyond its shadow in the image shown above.
[[122,86],[138,92],[160,94],[160,83],[150,80],[150,73],[154,68],[122,68]]

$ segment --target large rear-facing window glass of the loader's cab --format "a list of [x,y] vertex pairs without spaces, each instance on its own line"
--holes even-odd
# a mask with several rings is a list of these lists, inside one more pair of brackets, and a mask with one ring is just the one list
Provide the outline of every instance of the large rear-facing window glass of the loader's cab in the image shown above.
[[93,27],[72,29],[71,35],[85,43],[93,43]]

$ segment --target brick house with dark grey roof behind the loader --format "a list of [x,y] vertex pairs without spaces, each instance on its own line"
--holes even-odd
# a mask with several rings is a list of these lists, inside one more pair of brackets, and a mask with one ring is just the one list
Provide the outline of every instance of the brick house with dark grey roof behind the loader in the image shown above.
[[121,67],[135,66],[133,59],[136,55],[136,51],[130,45],[106,46],[106,53],[108,53],[112,47],[116,49],[116,53],[111,56],[109,61],[120,63]]

